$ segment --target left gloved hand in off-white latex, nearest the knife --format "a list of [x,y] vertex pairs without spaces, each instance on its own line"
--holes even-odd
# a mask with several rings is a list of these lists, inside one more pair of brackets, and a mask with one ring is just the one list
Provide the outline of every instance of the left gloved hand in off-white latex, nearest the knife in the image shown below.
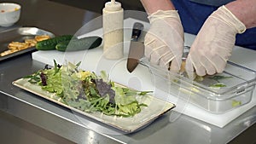
[[148,20],[150,28],[144,40],[145,56],[153,64],[178,72],[182,62],[184,34],[177,11],[159,10],[148,15]]

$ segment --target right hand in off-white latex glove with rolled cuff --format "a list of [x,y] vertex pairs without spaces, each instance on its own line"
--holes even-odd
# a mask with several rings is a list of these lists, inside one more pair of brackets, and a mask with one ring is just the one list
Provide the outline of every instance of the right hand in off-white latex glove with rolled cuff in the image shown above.
[[235,46],[236,34],[245,31],[246,26],[224,6],[213,12],[190,48],[185,66],[189,78],[195,78],[195,72],[199,76],[223,72]]

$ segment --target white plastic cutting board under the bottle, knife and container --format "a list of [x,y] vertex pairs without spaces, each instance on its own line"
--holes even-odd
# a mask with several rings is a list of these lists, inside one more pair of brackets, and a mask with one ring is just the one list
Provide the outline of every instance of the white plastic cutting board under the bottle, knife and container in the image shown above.
[[[150,72],[145,66],[137,66],[134,72],[128,72],[126,70],[126,59],[128,55],[128,49],[130,45],[131,38],[131,28],[134,22],[142,22],[147,30],[149,24],[141,20],[126,19],[125,25],[125,55],[124,58],[119,60],[106,60],[103,56],[102,46],[96,49],[90,49],[88,51],[76,51],[76,52],[59,52],[55,50],[50,51],[36,51],[32,53],[32,59],[38,60],[45,64],[53,66],[53,60],[57,63],[65,64],[67,61],[77,63],[82,61],[80,67],[84,70],[94,71],[96,73],[104,70],[109,73],[110,78],[119,83],[124,84],[128,87],[140,90],[154,90],[154,96],[157,96],[163,100],[171,101],[176,104],[174,111],[181,112],[192,118],[200,119],[201,121],[207,122],[209,124],[216,125],[218,127],[224,127],[229,124],[230,121],[240,116],[243,112],[252,108],[256,104],[256,90],[253,93],[253,100],[245,106],[239,107],[230,112],[225,112],[223,114],[212,114],[199,107],[195,107],[186,101],[181,101],[177,99],[176,96],[169,95],[160,89],[154,88],[154,83],[152,83]],[[102,37],[102,29],[98,29],[94,32],[85,34],[84,36],[96,35]],[[185,45],[191,45],[195,39],[195,35],[185,33]],[[241,47],[236,47],[233,50],[233,55],[230,61],[235,62],[241,66],[246,66],[248,68],[256,70],[256,51],[250,49],[243,49]],[[175,118],[173,119],[175,120]]]

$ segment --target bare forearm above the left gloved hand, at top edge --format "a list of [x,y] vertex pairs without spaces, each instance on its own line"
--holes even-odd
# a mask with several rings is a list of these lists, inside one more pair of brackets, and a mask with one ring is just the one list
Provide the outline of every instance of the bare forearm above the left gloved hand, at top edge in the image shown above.
[[174,10],[170,0],[141,0],[143,7],[148,14],[152,14],[157,10]]

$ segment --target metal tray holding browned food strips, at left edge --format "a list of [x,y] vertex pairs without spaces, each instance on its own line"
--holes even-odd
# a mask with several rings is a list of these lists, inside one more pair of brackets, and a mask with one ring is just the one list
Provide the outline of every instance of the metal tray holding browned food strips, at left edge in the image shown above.
[[[49,35],[49,37],[55,37],[52,32],[47,32],[37,27],[16,27],[8,31],[0,32],[0,53],[8,50],[8,44],[11,42],[24,42],[25,39],[34,38],[37,35]],[[0,61],[30,52],[32,50],[35,50],[35,47],[22,49],[9,55],[0,56]]]

